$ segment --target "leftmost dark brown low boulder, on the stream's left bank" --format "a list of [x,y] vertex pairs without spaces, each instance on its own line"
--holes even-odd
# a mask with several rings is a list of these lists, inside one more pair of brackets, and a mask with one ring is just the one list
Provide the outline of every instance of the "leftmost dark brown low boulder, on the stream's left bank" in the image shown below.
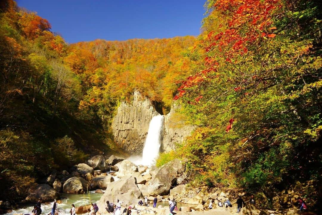
[[30,189],[26,200],[35,203],[40,198],[43,199],[43,202],[49,202],[54,199],[60,199],[60,195],[48,184],[37,184]]

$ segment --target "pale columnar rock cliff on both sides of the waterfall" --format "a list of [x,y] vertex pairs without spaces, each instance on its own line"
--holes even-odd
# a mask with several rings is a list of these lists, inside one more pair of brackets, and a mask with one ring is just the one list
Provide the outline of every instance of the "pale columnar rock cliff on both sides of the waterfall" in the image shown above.
[[[174,150],[175,143],[182,143],[196,128],[185,123],[185,116],[177,112],[178,109],[179,107],[173,104],[171,111],[164,117],[160,151]],[[159,113],[151,101],[135,91],[133,101],[122,102],[112,121],[114,141],[124,150],[140,154],[143,151],[149,123],[156,115]]]

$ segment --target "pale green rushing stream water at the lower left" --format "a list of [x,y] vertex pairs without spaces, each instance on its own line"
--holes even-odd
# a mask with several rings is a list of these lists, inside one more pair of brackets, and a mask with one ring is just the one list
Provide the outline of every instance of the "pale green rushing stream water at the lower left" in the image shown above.
[[[69,193],[60,193],[61,194],[61,203],[58,203],[57,210],[60,215],[70,215],[71,204],[74,204],[75,207],[89,205],[91,203],[95,203],[100,200],[103,194],[95,193],[94,191],[90,192],[90,197],[87,194],[69,194]],[[33,210],[33,206],[35,204],[28,204],[20,209],[13,210],[10,213],[6,213],[5,215],[13,215],[13,214],[31,214]],[[51,203],[50,204],[41,204],[42,215],[47,215],[51,212]]]

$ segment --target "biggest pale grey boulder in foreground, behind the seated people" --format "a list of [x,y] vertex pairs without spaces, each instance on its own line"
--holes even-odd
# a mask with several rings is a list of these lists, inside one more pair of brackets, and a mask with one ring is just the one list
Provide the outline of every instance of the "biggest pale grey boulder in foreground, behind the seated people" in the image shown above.
[[134,178],[121,178],[111,182],[106,188],[104,195],[97,202],[100,213],[106,213],[105,202],[107,200],[119,199],[128,205],[137,204],[139,199],[143,199],[141,191],[137,188]]

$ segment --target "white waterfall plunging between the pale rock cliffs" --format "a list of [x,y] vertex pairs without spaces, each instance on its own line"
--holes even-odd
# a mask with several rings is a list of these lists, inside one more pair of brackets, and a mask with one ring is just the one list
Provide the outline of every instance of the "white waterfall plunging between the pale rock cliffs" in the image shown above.
[[163,115],[157,115],[152,118],[147,131],[147,139],[144,143],[142,164],[151,166],[155,164],[159,155],[159,149],[162,138]]

